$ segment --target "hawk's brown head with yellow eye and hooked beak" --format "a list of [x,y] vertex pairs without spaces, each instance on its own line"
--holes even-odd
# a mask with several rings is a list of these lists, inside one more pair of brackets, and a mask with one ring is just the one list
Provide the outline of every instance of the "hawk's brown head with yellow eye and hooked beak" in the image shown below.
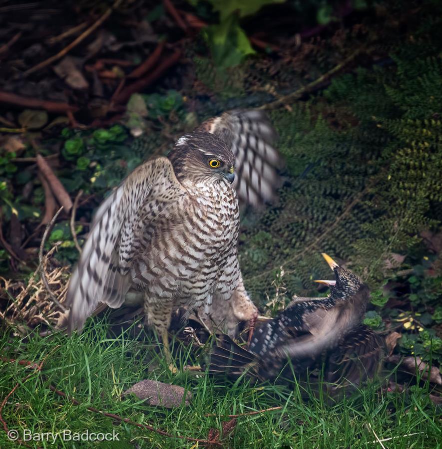
[[235,157],[232,150],[213,134],[193,132],[180,137],[168,156],[179,181],[233,182]]

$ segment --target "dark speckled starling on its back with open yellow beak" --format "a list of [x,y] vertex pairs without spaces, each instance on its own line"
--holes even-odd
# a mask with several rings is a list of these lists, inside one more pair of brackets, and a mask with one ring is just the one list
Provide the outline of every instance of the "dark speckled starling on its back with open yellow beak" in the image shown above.
[[[291,359],[295,372],[325,361],[325,381],[343,386],[372,378],[382,359],[382,339],[362,324],[368,287],[324,255],[336,281],[327,298],[300,298],[255,330],[248,350],[223,336],[212,350],[209,371],[239,375],[251,368],[261,379],[278,376]],[[338,388],[338,387],[336,387]]]

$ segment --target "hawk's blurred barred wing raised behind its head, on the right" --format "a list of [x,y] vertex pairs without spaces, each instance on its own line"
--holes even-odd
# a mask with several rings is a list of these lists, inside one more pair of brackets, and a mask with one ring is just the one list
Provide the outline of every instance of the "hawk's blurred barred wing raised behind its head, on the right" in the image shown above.
[[281,180],[279,152],[274,148],[277,134],[267,115],[258,110],[234,110],[204,122],[201,130],[215,134],[235,155],[238,198],[252,206],[275,199]]

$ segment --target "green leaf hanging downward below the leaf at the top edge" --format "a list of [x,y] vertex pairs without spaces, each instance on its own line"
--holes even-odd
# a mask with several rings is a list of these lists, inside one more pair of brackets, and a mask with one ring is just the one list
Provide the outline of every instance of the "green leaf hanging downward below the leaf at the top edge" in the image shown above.
[[217,67],[233,67],[240,64],[247,55],[255,53],[244,30],[239,26],[236,14],[231,14],[217,25],[207,27],[205,33]]

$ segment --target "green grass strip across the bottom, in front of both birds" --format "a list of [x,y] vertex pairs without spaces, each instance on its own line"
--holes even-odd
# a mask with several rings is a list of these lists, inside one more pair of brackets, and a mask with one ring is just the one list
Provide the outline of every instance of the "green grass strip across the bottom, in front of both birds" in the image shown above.
[[[133,331],[139,331],[139,338]],[[428,388],[411,387],[406,393],[382,393],[367,386],[352,399],[327,404],[321,398],[302,400],[298,386],[254,384],[247,379],[232,383],[201,373],[172,374],[155,341],[141,328],[134,327],[115,338],[107,336],[105,320],[96,320],[80,335],[68,338],[12,337],[2,332],[1,356],[7,359],[40,362],[47,356],[41,372],[0,362],[0,403],[19,382],[2,410],[9,429],[36,432],[118,433],[120,442],[72,443],[57,440],[63,448],[197,448],[203,447],[180,439],[167,438],[130,424],[118,424],[112,418],[92,413],[87,407],[117,414],[144,423],[172,435],[207,439],[209,430],[221,429],[227,415],[247,413],[270,407],[282,409],[258,415],[241,416],[230,437],[222,441],[229,448],[439,448],[442,419],[428,397]],[[189,351],[183,350],[179,366],[187,363]],[[30,377],[23,383],[21,380]],[[173,383],[188,389],[193,396],[190,406],[164,409],[143,404],[134,396],[120,394],[143,379]],[[57,396],[49,386],[73,397],[81,404]],[[214,414],[215,416],[206,416]],[[373,431],[369,430],[371,425]],[[405,435],[416,434],[404,437]],[[51,447],[46,442],[29,442],[30,447]],[[0,431],[0,448],[15,448]]]

